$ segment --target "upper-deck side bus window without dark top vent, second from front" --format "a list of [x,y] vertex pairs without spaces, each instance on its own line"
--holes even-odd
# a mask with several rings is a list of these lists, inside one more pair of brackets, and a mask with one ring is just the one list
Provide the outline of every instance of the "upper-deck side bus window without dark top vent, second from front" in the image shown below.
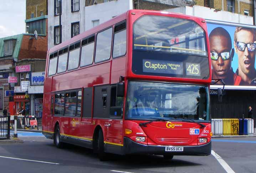
[[113,28],[106,29],[97,34],[95,62],[109,60],[112,44]]

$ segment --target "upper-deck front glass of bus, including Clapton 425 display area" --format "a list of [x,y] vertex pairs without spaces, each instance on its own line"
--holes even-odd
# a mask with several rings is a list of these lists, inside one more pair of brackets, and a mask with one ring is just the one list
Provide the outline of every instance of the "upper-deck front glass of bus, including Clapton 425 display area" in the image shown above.
[[152,76],[209,78],[206,34],[187,19],[142,16],[133,24],[132,71]]

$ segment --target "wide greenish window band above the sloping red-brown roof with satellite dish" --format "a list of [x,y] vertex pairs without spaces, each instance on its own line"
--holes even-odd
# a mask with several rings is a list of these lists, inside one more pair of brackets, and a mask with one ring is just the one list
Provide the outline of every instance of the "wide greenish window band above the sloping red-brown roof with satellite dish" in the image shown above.
[[37,34],[46,35],[46,23],[45,19],[40,19],[33,22],[27,22],[26,26],[28,26],[28,33],[34,34],[35,30]]

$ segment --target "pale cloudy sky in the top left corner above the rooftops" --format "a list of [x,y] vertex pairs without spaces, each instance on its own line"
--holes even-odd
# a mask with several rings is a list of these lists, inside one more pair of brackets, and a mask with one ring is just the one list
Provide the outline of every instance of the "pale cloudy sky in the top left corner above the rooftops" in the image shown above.
[[26,0],[0,0],[0,38],[26,32]]

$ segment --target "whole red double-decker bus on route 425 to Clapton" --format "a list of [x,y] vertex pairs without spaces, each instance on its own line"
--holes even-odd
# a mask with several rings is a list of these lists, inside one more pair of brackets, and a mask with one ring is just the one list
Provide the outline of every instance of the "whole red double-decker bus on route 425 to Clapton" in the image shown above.
[[129,10],[48,51],[43,134],[106,153],[210,155],[205,20]]

